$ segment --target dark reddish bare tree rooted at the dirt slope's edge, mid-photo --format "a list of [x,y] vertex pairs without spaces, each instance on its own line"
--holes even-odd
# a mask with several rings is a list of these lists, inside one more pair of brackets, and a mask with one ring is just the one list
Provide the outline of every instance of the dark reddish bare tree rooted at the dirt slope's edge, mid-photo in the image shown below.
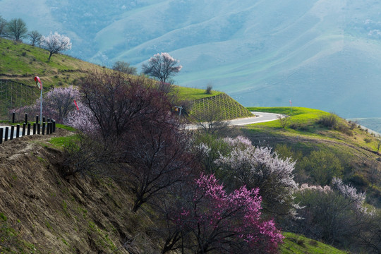
[[170,186],[185,181],[193,170],[189,135],[180,131],[176,121],[163,119],[168,115],[159,117],[136,125],[126,143],[124,169],[127,186],[135,194],[134,212],[153,197],[166,195]]

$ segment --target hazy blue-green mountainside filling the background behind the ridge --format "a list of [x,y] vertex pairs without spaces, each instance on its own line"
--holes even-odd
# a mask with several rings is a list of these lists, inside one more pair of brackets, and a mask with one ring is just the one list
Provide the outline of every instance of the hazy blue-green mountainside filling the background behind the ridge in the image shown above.
[[381,116],[381,1],[0,0],[0,15],[71,37],[68,54],[140,67],[170,52],[176,83],[227,92],[245,106]]

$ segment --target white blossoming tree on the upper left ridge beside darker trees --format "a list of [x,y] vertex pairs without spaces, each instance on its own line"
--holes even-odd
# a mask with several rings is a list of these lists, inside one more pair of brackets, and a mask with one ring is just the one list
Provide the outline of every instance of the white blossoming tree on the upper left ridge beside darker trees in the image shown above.
[[54,34],[50,32],[49,36],[41,37],[40,47],[49,51],[49,62],[53,54],[71,49],[71,42],[70,38],[65,35],[60,35],[58,32],[54,32]]

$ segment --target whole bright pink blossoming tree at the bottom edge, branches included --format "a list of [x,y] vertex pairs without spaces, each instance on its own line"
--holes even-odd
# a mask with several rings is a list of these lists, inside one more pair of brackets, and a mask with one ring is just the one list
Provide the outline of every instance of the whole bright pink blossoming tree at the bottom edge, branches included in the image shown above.
[[201,174],[193,191],[169,216],[188,239],[182,241],[186,246],[177,248],[193,253],[277,253],[284,237],[272,220],[261,219],[258,193],[258,188],[242,186],[228,194],[214,175]]

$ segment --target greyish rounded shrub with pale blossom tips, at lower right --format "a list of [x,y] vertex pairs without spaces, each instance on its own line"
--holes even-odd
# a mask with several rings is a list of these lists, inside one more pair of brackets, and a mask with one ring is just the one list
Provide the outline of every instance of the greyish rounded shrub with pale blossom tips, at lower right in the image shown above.
[[364,201],[365,193],[358,193],[341,179],[333,179],[331,187],[303,184],[296,191],[296,202],[304,207],[299,210],[303,219],[296,222],[296,231],[334,246],[356,246],[357,232],[370,216],[363,208]]

